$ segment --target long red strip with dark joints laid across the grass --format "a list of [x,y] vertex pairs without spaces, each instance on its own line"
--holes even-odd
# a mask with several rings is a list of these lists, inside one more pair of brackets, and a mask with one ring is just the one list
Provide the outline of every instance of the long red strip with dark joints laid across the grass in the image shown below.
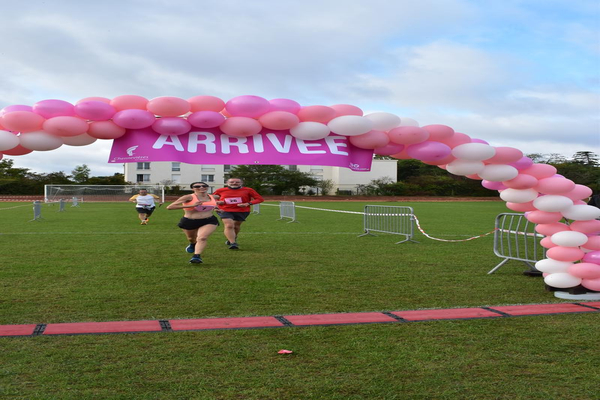
[[390,312],[282,315],[268,317],[202,318],[148,321],[76,322],[0,325],[0,336],[91,335],[256,329],[324,325],[407,323],[434,320],[507,318],[549,314],[598,313],[600,302],[528,304],[498,307],[448,308]]

